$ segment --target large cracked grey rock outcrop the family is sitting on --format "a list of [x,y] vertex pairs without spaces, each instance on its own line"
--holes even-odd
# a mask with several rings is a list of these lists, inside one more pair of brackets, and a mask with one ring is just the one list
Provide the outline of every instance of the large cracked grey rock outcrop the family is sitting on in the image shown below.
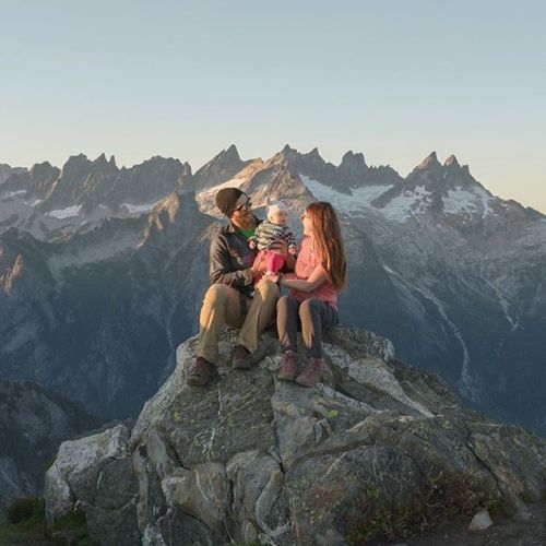
[[219,379],[188,387],[195,342],[178,347],[132,430],[61,446],[46,477],[49,521],[81,510],[104,545],[363,544],[424,529],[432,503],[466,524],[483,510],[524,518],[546,490],[544,441],[466,410],[384,339],[334,331],[309,390],[276,381],[270,334],[257,367],[230,369],[232,331]]

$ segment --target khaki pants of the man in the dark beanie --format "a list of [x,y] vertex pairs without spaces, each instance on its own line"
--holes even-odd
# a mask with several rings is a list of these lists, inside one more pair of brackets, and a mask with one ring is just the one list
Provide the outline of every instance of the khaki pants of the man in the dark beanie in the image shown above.
[[199,316],[197,356],[218,364],[218,340],[227,324],[240,328],[237,343],[254,353],[260,335],[272,322],[280,290],[275,283],[264,281],[256,287],[254,297],[247,298],[248,313],[241,309],[239,290],[225,284],[213,284],[205,294]]

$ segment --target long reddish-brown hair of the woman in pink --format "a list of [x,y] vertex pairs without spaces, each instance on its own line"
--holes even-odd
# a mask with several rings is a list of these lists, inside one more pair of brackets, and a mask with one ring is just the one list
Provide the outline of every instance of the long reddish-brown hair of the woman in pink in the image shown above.
[[327,278],[336,290],[344,290],[347,287],[347,260],[337,215],[325,201],[311,203],[306,214],[311,221],[314,251]]

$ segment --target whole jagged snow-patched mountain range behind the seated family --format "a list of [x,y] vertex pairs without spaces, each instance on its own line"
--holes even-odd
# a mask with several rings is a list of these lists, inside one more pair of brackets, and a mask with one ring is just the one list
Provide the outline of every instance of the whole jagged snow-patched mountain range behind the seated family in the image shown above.
[[546,216],[492,195],[452,155],[406,177],[347,152],[235,146],[194,174],[104,155],[0,168],[0,376],[32,379],[104,418],[135,415],[197,331],[214,195],[283,198],[290,225],[335,206],[348,254],[342,321],[391,339],[495,418],[546,434]]

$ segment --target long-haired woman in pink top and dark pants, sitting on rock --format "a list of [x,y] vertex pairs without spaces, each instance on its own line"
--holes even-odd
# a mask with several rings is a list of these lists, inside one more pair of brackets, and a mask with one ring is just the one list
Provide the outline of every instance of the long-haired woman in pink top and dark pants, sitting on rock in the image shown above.
[[[340,222],[330,203],[311,203],[301,215],[304,238],[296,261],[295,278],[270,275],[290,288],[277,302],[278,337],[283,359],[278,379],[314,387],[323,368],[322,331],[339,322],[337,293],[346,287],[346,259]],[[298,319],[308,361],[297,375]]]

